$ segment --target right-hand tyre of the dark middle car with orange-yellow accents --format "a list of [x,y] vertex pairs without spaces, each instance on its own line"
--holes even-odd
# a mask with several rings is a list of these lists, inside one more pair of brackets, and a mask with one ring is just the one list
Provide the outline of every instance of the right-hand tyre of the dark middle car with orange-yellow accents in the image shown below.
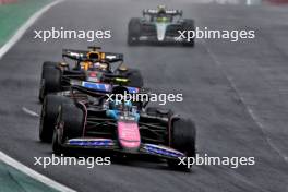
[[123,72],[122,75],[124,75],[127,79],[129,79],[128,86],[143,87],[144,81],[143,81],[143,76],[139,70],[129,69],[128,71]]

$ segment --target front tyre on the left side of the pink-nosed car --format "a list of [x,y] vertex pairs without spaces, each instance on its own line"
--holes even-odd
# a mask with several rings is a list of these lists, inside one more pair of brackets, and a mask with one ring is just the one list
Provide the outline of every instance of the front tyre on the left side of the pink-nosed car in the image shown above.
[[57,118],[53,132],[52,149],[56,154],[63,152],[63,143],[69,139],[81,137],[84,128],[84,112],[74,104],[63,104]]

